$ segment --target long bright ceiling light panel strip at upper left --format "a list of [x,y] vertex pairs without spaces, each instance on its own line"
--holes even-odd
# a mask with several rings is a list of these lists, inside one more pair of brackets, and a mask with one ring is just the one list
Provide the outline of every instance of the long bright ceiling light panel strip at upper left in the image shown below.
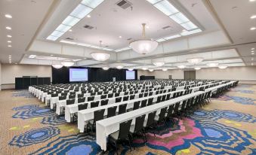
[[76,23],[88,16],[103,0],[83,0],[46,39],[56,41]]

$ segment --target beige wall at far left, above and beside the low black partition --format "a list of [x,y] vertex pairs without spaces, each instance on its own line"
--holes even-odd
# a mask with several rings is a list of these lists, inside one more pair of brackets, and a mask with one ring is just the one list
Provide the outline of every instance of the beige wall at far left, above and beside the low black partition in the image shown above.
[[15,78],[22,76],[51,77],[51,65],[2,64],[2,89],[14,88]]

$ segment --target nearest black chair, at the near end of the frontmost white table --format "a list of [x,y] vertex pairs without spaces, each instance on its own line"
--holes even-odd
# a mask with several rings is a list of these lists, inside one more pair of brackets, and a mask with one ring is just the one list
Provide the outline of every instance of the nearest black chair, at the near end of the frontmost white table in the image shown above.
[[118,154],[117,150],[117,144],[119,141],[128,141],[129,147],[131,150],[131,143],[130,139],[128,137],[129,130],[131,127],[131,121],[132,120],[127,120],[123,123],[119,124],[119,131],[113,132],[112,134],[109,135],[109,144],[112,144],[114,147],[116,147],[116,154]]

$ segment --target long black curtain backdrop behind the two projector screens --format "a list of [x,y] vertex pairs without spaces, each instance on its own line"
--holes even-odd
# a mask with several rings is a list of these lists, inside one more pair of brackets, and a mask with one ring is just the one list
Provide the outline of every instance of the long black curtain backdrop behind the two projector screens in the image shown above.
[[[69,84],[69,68],[52,68],[52,84]],[[85,67],[70,67],[70,68],[85,68]],[[107,82],[113,81],[125,81],[126,69],[109,68],[109,70],[103,70],[103,68],[88,68],[88,82]],[[137,70],[135,71],[135,80],[137,80]]]

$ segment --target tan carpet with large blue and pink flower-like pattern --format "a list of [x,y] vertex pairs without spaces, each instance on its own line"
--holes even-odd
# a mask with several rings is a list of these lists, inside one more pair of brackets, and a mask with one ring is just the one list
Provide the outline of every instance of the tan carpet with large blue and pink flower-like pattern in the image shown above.
[[[0,154],[103,154],[91,135],[79,133],[27,90],[0,92]],[[137,138],[119,154],[256,154],[256,86],[239,85],[168,129]],[[105,154],[114,154],[113,150]]]

